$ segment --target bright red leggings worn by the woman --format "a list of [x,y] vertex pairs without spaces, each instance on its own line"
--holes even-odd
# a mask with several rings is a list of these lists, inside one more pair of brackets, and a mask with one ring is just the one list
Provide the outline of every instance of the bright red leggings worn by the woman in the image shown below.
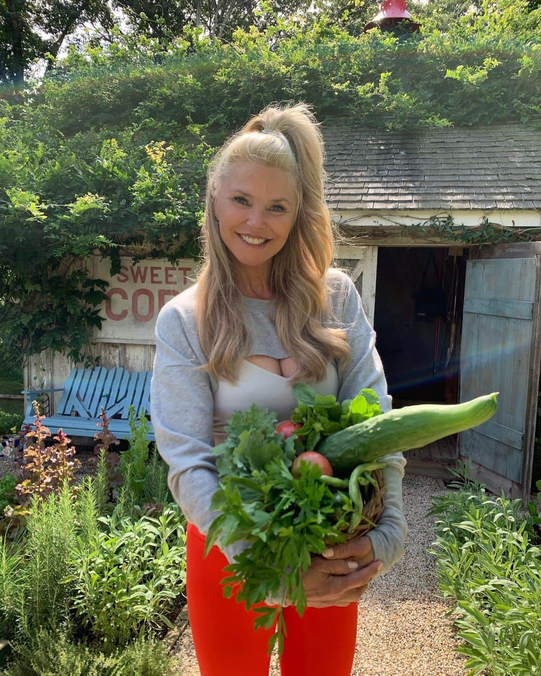
[[[223,595],[220,581],[227,558],[213,546],[204,558],[205,536],[187,529],[188,616],[201,676],[268,676],[267,655],[273,629],[254,629],[256,613],[244,602]],[[264,606],[264,604],[258,604]],[[256,606],[257,607],[257,606]],[[350,676],[357,633],[357,604],[284,608],[287,637],[281,657],[282,676]]]

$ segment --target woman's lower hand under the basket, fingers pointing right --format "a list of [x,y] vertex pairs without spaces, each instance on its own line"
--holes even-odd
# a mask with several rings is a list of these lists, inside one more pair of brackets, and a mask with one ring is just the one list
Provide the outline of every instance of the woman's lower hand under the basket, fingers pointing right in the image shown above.
[[301,580],[310,608],[348,606],[356,603],[367,589],[369,581],[379,570],[381,561],[373,561],[358,570],[353,570],[345,560],[326,560],[312,557]]

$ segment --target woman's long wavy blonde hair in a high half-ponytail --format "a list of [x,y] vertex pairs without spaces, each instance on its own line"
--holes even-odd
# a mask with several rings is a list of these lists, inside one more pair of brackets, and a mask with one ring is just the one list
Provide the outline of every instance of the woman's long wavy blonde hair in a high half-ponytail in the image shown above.
[[[262,133],[262,130],[271,133]],[[291,383],[319,381],[327,362],[350,357],[346,331],[325,324],[333,318],[327,271],[338,239],[325,202],[323,137],[309,105],[268,105],[226,141],[210,164],[204,225],[203,264],[197,275],[195,321],[208,364],[216,379],[237,381],[249,356],[250,337],[238,308],[234,257],[222,241],[214,200],[220,180],[235,162],[278,167],[293,179],[297,217],[285,245],[273,258],[271,292],[275,324],[283,347],[299,372]]]

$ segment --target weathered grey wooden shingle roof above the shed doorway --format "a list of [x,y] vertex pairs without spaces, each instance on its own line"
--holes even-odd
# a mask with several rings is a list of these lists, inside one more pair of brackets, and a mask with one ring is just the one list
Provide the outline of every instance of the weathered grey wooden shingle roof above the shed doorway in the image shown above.
[[333,210],[541,208],[541,130],[532,124],[410,133],[340,119],[321,131]]

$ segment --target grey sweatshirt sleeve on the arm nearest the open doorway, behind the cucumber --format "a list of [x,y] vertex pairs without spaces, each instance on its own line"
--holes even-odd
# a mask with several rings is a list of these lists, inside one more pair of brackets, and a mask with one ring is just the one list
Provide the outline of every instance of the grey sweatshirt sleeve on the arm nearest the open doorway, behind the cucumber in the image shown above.
[[[375,347],[375,331],[369,324],[360,295],[352,280],[344,275],[343,321],[348,331],[348,343],[352,353],[350,362],[339,372],[338,400],[352,399],[364,387],[373,389],[378,397],[381,412],[392,410],[392,397],[387,393],[387,381],[381,358]],[[379,575],[384,575],[404,553],[404,539],[408,532],[402,504],[402,479],[406,460],[402,453],[384,456],[381,470],[385,485],[384,508],[375,529],[368,533],[375,559],[383,562]]]

